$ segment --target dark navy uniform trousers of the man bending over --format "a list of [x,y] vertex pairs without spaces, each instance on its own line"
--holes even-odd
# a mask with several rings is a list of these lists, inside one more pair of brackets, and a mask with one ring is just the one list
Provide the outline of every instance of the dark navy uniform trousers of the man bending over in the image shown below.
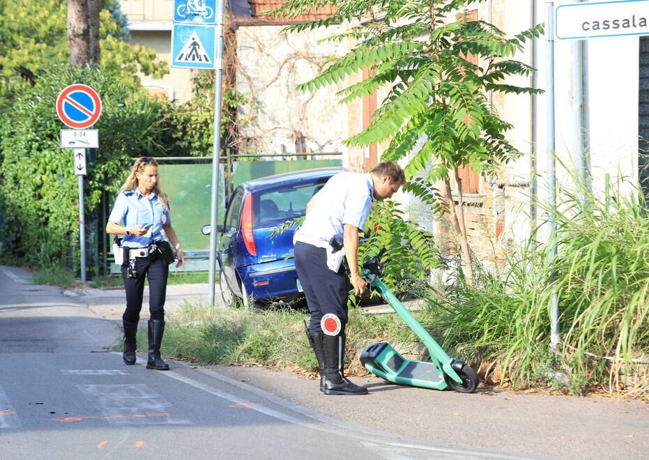
[[295,268],[302,284],[311,314],[309,333],[320,332],[322,316],[333,313],[340,319],[342,330],[347,323],[347,299],[351,283],[344,264],[337,273],[327,266],[327,251],[301,241],[295,244]]

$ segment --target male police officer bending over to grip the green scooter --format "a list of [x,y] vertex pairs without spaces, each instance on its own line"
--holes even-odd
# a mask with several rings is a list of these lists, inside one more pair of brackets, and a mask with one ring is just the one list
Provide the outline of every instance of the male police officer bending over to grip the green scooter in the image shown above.
[[343,374],[349,282],[357,296],[365,291],[358,271],[358,233],[365,229],[372,198],[392,197],[404,181],[404,171],[395,162],[382,162],[369,174],[336,174],[309,201],[304,223],[296,231],[296,270],[311,314],[307,337],[325,394],[367,394],[367,388]]

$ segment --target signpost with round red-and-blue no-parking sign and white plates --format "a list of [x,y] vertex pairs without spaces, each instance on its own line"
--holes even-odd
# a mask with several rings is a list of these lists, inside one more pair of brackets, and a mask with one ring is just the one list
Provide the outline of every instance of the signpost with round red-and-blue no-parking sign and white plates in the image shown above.
[[81,247],[81,280],[86,281],[86,220],[84,217],[84,176],[86,149],[99,147],[99,131],[86,130],[101,116],[101,99],[97,91],[84,84],[71,84],[56,98],[56,114],[73,128],[61,130],[61,147],[72,148],[75,174],[79,182],[79,245]]

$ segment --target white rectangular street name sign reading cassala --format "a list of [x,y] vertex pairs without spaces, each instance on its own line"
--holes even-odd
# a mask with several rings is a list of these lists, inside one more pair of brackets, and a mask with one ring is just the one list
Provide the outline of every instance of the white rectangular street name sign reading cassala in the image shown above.
[[570,3],[554,15],[557,40],[649,35],[649,0]]

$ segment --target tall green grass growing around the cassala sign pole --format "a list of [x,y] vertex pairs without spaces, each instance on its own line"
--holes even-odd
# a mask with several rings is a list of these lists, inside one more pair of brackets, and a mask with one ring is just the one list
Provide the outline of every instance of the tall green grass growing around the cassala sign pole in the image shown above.
[[[649,217],[638,189],[606,181],[600,197],[560,190],[558,256],[537,233],[510,253],[501,275],[427,293],[427,326],[500,383],[556,383],[648,397]],[[559,353],[550,351],[549,305],[558,296]]]

